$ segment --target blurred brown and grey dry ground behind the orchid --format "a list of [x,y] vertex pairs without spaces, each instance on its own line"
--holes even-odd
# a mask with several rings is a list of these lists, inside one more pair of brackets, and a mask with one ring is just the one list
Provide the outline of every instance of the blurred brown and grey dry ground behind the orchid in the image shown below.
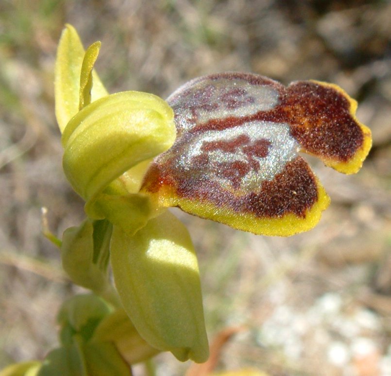
[[[374,147],[357,175],[309,158],[332,200],[315,229],[268,238],[176,214],[199,256],[210,341],[244,327],[217,370],[391,375],[391,3],[360,0],[0,1],[0,368],[42,359],[57,343],[58,307],[81,291],[41,233],[42,206],[59,237],[83,218],[54,118],[65,22],[85,47],[102,41],[96,67],[110,92],[165,98],[236,70],[329,81],[358,100]],[[162,354],[157,374],[189,365]]]

